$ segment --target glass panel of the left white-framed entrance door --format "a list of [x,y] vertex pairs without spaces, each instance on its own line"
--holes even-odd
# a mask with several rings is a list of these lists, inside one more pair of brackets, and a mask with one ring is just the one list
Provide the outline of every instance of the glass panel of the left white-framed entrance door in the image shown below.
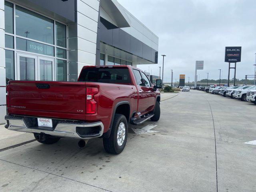
[[20,80],[35,80],[35,59],[20,57]]

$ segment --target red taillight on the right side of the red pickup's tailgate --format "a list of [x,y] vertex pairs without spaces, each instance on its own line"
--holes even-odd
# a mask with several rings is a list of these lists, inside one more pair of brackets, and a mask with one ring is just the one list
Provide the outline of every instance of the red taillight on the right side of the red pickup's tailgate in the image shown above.
[[98,88],[86,88],[86,114],[95,114],[97,112],[97,102],[94,100],[94,95],[98,93]]

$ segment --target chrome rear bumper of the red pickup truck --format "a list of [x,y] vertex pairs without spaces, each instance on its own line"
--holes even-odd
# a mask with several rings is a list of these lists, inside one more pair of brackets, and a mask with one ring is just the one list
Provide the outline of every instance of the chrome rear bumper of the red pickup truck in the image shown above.
[[[100,137],[103,134],[104,131],[104,125],[102,122],[94,122],[94,123],[86,123],[86,122],[69,122],[69,121],[63,121],[58,122],[55,128],[52,128],[50,130],[49,128],[44,129],[44,127],[28,127],[25,123],[26,120],[24,120],[21,116],[12,116],[12,115],[6,115],[5,120],[7,120],[7,124],[5,128],[8,130],[13,131],[19,131],[19,132],[26,132],[26,133],[44,133],[49,134],[52,136],[58,136],[58,137],[69,137],[69,138],[77,138],[77,139],[91,139]],[[98,128],[98,132],[95,134],[87,134],[87,135],[81,135],[79,134],[79,131],[81,131],[83,128]],[[81,133],[81,132],[80,132]]]

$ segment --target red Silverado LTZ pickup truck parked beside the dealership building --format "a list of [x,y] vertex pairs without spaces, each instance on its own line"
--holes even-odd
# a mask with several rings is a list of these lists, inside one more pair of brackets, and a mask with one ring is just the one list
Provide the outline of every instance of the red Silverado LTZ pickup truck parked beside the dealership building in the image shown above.
[[126,145],[128,124],[160,118],[162,80],[153,86],[132,66],[84,66],[78,82],[16,81],[6,86],[6,128],[33,133],[43,144],[62,137],[103,138],[108,153]]

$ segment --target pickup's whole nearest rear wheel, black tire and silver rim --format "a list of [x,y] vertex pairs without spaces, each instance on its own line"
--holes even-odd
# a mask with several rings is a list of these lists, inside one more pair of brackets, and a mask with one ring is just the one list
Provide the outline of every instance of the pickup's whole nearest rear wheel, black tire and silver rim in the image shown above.
[[126,145],[128,123],[122,114],[115,114],[109,138],[103,138],[103,146],[107,153],[120,154]]

